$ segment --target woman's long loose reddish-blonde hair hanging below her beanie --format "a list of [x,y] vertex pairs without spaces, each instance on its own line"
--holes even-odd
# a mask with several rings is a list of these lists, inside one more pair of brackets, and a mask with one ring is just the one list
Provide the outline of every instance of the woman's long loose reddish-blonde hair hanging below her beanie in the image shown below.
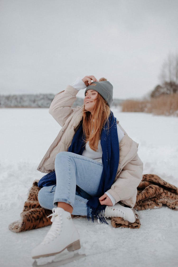
[[[100,81],[100,80],[99,80]],[[110,115],[110,108],[104,98],[98,93],[96,104],[92,113],[87,111],[84,106],[83,111],[83,131],[85,142],[89,142],[92,150],[97,151],[101,131]],[[109,126],[109,122],[108,122]]]

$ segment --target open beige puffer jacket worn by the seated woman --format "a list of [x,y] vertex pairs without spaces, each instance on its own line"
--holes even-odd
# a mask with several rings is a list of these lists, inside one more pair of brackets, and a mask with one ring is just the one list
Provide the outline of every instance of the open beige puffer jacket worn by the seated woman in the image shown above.
[[[65,91],[58,93],[50,105],[49,113],[62,126],[61,131],[41,160],[37,170],[45,173],[54,171],[54,161],[57,153],[68,151],[73,136],[82,120],[83,107],[72,108],[78,91],[68,85]],[[118,121],[117,121],[118,123]],[[119,143],[119,165],[115,182],[108,190],[116,202],[134,207],[137,196],[137,186],[143,177],[143,163],[137,151],[138,144],[124,131],[124,137]]]

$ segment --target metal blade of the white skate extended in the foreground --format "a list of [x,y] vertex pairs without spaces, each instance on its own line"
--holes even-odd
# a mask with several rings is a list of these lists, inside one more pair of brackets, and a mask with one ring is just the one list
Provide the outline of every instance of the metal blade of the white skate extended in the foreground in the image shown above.
[[67,264],[72,261],[79,260],[80,258],[86,257],[85,254],[79,254],[74,251],[68,252],[67,249],[65,249],[60,254],[54,255],[54,256],[48,256],[43,258],[36,259],[32,266],[33,267],[58,267],[64,264]]

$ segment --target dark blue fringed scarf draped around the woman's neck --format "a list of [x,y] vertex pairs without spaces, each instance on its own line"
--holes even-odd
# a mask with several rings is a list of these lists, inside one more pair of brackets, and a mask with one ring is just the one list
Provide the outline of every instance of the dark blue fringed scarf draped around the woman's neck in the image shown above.
[[[113,113],[109,116],[109,128],[108,123],[104,125],[101,132],[101,148],[102,148],[102,164],[103,170],[101,174],[100,185],[98,187],[97,196],[92,197],[87,202],[88,207],[88,219],[91,217],[92,221],[94,218],[100,219],[101,222],[105,222],[104,211],[105,205],[101,205],[99,199],[106,191],[108,191],[117,174],[118,164],[119,164],[119,141],[117,135],[117,124],[116,118]],[[72,144],[68,149],[68,152],[73,152],[82,155],[85,149],[84,133],[82,123],[75,133]],[[39,187],[49,186],[56,184],[56,174],[55,171],[43,176],[38,182]]]

